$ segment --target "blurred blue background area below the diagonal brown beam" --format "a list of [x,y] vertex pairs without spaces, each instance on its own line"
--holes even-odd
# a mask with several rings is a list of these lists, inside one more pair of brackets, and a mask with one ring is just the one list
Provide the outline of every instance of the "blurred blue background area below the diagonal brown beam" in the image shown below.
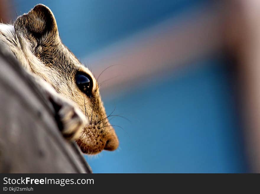
[[[94,172],[247,172],[242,132],[223,60],[106,101],[131,120],[114,119],[120,139],[113,153],[87,159]],[[94,169],[96,168],[96,169]]]

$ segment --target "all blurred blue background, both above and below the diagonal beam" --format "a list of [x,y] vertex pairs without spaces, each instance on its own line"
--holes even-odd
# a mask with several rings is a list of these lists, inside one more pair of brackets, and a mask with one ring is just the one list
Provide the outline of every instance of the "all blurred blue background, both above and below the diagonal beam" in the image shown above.
[[[62,41],[83,59],[212,2],[14,0],[13,6],[18,15],[38,3],[49,6]],[[86,156],[93,172],[249,172],[226,63],[221,54],[213,53],[186,64],[192,68],[170,71],[165,76],[151,74],[147,82],[104,94],[107,113],[116,106],[115,114],[130,121],[119,117],[111,120],[123,128],[115,127],[119,149]]]

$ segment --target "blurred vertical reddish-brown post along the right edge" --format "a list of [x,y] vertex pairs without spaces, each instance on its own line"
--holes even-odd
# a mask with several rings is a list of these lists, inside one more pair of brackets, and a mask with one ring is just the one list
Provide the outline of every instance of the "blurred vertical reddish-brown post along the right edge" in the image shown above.
[[260,173],[260,1],[229,1],[226,13],[226,42],[238,61],[247,153],[252,171]]

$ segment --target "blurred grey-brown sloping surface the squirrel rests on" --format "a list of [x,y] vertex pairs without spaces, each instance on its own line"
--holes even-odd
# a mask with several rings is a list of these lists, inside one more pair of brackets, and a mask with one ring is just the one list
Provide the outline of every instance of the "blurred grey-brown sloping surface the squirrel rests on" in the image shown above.
[[0,45],[0,172],[92,173],[77,144],[58,131],[53,111]]

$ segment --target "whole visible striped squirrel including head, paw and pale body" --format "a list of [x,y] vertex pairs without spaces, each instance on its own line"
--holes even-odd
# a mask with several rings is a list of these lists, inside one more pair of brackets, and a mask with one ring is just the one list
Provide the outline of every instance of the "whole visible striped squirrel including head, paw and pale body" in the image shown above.
[[0,24],[0,43],[47,95],[63,136],[85,154],[116,150],[118,138],[108,121],[91,71],[61,42],[51,10],[38,4],[14,25]]

